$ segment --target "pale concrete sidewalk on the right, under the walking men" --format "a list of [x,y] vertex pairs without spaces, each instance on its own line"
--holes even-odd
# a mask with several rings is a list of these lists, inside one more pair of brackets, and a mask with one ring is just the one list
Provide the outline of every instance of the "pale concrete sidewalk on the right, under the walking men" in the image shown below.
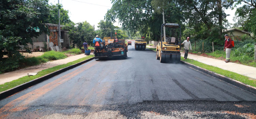
[[[184,52],[181,52],[181,56],[184,57]],[[241,64],[237,64],[237,63],[225,63],[222,60],[217,60],[214,58],[208,58],[208,57],[204,57],[204,56],[198,56],[198,55],[194,55],[194,54],[188,54],[188,58],[207,64],[207,65],[211,65],[214,67],[218,67],[224,70],[228,70],[228,71],[232,71],[241,75],[245,75],[249,78],[252,79],[256,79],[256,68],[255,67],[250,67],[250,66],[245,66],[245,65],[241,65]],[[232,57],[231,57],[232,58]]]

